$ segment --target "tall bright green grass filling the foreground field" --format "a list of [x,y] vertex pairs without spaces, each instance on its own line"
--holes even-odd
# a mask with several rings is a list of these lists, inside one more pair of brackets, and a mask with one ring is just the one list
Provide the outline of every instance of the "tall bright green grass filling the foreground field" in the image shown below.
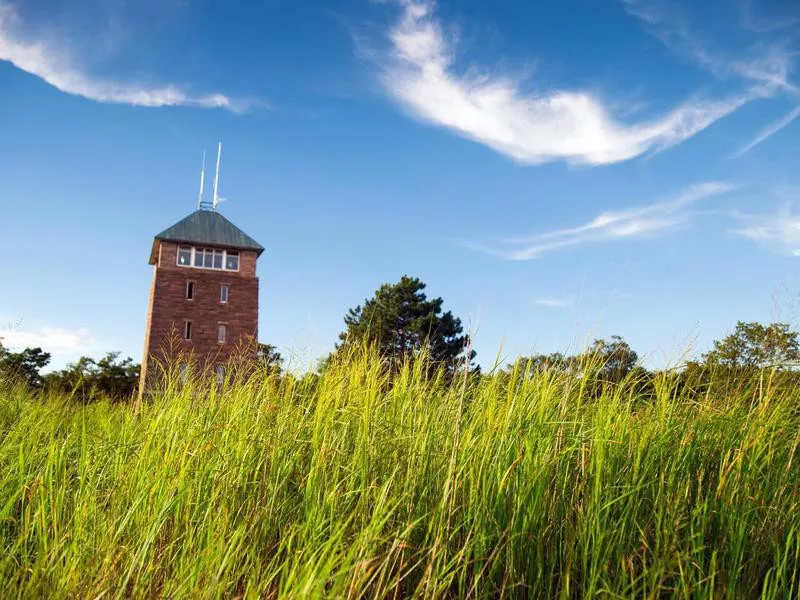
[[0,385],[0,590],[797,597],[800,392],[582,385],[363,357],[138,413]]

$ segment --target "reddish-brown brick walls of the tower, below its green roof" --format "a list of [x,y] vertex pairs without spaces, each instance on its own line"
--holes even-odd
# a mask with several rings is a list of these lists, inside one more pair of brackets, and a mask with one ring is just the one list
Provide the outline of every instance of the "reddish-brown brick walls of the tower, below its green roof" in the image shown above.
[[[200,366],[224,363],[242,343],[258,339],[257,255],[240,251],[239,271],[179,267],[178,244],[159,244],[150,294],[142,382],[151,358],[191,355]],[[191,300],[186,284],[194,283]],[[228,301],[220,302],[220,286],[228,286]],[[192,322],[192,339],[184,341],[186,321]],[[227,326],[225,343],[217,341],[217,326]],[[165,356],[166,355],[166,356]]]

